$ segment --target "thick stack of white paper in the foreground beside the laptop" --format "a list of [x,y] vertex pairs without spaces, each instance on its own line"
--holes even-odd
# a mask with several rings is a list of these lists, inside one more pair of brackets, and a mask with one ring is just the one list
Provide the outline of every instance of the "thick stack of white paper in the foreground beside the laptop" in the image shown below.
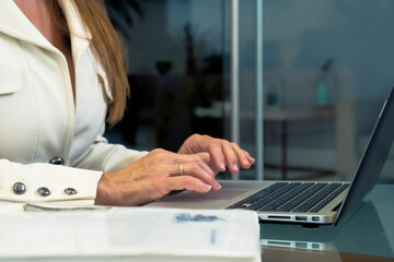
[[113,207],[0,215],[0,258],[260,258],[251,211]]

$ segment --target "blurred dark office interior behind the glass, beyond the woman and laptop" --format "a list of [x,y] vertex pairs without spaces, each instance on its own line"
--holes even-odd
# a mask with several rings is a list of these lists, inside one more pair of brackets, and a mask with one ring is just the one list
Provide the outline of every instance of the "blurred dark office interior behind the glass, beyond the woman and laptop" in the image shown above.
[[[196,132],[232,138],[231,2],[106,1],[128,48],[131,86],[111,142],[176,151]],[[240,178],[351,179],[394,83],[394,1],[262,0],[260,13],[257,2],[239,0],[239,136],[256,156],[263,124],[263,170]],[[393,172],[391,152],[382,180]]]

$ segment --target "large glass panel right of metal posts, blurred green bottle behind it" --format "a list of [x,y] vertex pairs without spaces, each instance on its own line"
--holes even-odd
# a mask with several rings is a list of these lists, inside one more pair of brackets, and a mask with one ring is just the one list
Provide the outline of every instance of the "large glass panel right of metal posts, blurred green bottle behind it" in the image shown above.
[[265,0],[265,178],[350,179],[394,75],[390,0]]

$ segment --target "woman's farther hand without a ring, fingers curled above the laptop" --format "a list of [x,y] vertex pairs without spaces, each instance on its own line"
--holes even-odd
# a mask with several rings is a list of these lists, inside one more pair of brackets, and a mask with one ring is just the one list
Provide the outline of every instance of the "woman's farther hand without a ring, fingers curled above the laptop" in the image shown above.
[[207,152],[210,155],[209,167],[215,174],[224,171],[225,166],[230,172],[239,172],[239,165],[248,169],[255,163],[251,155],[240,148],[236,143],[227,140],[213,139],[209,135],[194,134],[181,146],[179,154],[197,154]]

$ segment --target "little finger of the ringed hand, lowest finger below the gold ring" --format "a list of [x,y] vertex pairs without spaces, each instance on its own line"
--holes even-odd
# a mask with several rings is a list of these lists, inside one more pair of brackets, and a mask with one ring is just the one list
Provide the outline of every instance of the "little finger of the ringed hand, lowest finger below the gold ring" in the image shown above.
[[211,186],[205,183],[198,178],[189,176],[179,176],[179,177],[169,177],[166,179],[166,188],[172,190],[194,190],[200,193],[206,193],[211,190]]

